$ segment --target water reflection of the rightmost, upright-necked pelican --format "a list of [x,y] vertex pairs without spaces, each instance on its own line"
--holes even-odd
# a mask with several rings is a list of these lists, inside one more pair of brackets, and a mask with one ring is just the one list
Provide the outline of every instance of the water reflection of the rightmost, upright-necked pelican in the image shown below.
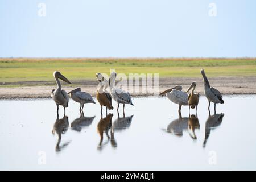
[[207,139],[209,138],[209,135],[210,135],[210,130],[220,126],[223,117],[224,117],[223,113],[214,114],[214,115],[209,114],[209,117],[205,123],[205,139],[204,139],[203,147],[205,147],[207,143]]

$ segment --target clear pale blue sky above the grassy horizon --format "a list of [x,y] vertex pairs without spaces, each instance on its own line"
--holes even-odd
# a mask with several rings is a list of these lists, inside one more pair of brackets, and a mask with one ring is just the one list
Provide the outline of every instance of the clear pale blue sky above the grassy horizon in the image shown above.
[[254,0],[0,0],[0,24],[0,57],[256,57]]

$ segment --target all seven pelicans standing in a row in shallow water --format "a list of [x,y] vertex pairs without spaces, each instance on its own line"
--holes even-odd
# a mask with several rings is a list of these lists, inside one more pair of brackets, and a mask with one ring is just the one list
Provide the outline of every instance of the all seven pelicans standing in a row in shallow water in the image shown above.
[[[210,87],[209,81],[207,76],[205,75],[204,69],[201,69],[201,75],[204,79],[204,93],[205,97],[209,101],[208,110],[210,112],[210,102],[214,103],[214,111],[216,112],[216,104],[220,103],[223,104],[224,100],[222,99],[221,93],[213,88]],[[57,106],[57,115],[59,115],[59,105],[64,107],[64,115],[65,115],[65,108],[68,107],[68,99],[69,96],[75,101],[80,104],[80,112],[84,109],[84,104],[93,103],[95,104],[93,97],[87,93],[82,92],[81,88],[76,88],[71,90],[70,92],[65,92],[65,90],[61,90],[61,85],[59,79],[71,84],[71,82],[61,75],[60,72],[55,71],[53,76],[57,83],[57,89],[52,89],[51,97],[56,103]],[[125,110],[125,104],[133,105],[131,101],[131,96],[129,92],[125,92],[121,88],[115,88],[115,79],[117,77],[117,73],[112,72],[110,74],[109,80],[107,80],[101,73],[96,73],[96,78],[99,82],[96,98],[101,105],[101,115],[102,115],[102,108],[103,106],[106,107],[106,114],[108,113],[108,109],[114,109],[112,105],[112,99],[117,102],[117,111],[119,109],[119,104],[123,104],[123,112]],[[182,86],[177,85],[174,88],[170,88],[165,90],[164,92],[160,93],[159,95],[167,94],[169,100],[174,102],[175,104],[179,105],[179,113],[181,111],[181,106],[189,106],[189,115],[190,109],[196,108],[196,115],[197,115],[197,106],[199,104],[199,94],[194,93],[196,88],[196,82],[192,82],[191,86],[187,89],[186,92],[182,91]],[[188,94],[189,90],[191,93]],[[69,95],[69,96],[68,96]]]

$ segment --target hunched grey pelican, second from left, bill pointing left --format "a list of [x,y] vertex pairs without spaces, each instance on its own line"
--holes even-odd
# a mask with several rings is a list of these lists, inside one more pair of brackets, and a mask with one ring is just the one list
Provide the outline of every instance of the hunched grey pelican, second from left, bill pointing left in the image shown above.
[[92,96],[87,93],[87,92],[81,92],[81,88],[76,88],[75,90],[71,90],[68,94],[70,94],[70,97],[80,103],[80,113],[82,112],[83,113],[83,109],[84,109],[84,104],[86,103],[94,103],[94,100],[92,98]]

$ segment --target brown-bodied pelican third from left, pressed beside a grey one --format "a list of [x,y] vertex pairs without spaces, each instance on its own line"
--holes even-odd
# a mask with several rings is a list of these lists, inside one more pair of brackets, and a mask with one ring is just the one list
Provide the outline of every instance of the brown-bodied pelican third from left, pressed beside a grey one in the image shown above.
[[96,92],[96,98],[98,102],[101,105],[101,115],[102,115],[102,106],[106,107],[106,113],[107,109],[112,110],[114,107],[112,106],[112,98],[109,93],[106,93],[106,87],[108,86],[108,81],[106,81],[106,78],[104,78],[101,73],[96,73],[96,78],[98,82],[100,82],[100,85]]

